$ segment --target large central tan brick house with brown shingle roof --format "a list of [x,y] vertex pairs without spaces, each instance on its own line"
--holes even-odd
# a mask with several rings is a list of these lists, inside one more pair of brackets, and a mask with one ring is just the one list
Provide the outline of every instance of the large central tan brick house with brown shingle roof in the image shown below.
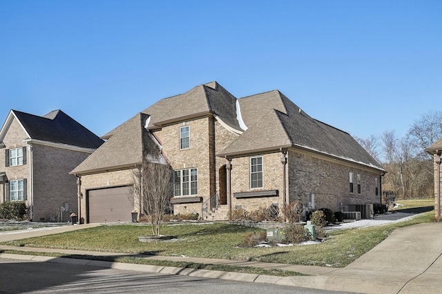
[[278,90],[237,99],[216,82],[199,85],[102,138],[108,140],[72,171],[81,179],[86,222],[130,221],[131,211],[140,211],[128,187],[146,154],[164,156],[174,170],[175,214],[224,220],[232,209],[281,209],[294,201],[333,211],[381,202],[381,165],[352,136],[311,118]]

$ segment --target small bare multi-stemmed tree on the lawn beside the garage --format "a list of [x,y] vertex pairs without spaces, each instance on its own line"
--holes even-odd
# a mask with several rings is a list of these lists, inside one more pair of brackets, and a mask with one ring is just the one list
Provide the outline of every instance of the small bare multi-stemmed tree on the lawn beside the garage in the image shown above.
[[132,194],[140,211],[152,224],[153,235],[160,235],[164,213],[170,209],[173,196],[172,170],[169,165],[144,158],[142,165],[133,169]]

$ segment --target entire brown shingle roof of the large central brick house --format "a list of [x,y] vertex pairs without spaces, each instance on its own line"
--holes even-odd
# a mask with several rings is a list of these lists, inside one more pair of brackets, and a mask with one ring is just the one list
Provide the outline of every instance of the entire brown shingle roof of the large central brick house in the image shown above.
[[240,127],[236,103],[236,97],[216,82],[164,98],[103,136],[108,138],[106,143],[73,173],[135,165],[141,162],[143,151],[160,154],[155,138],[145,128],[146,121],[148,129],[157,129],[165,123],[209,114],[240,134],[218,156],[298,147],[383,170],[352,136],[311,118],[278,90],[238,99],[247,129]]

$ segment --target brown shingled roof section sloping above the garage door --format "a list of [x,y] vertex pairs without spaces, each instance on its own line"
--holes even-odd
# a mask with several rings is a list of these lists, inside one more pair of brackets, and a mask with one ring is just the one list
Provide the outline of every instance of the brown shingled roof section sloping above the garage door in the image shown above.
[[70,174],[88,174],[94,171],[133,167],[142,162],[143,155],[158,160],[162,157],[160,146],[153,135],[144,128],[148,115],[139,113],[117,128],[106,143],[93,152]]

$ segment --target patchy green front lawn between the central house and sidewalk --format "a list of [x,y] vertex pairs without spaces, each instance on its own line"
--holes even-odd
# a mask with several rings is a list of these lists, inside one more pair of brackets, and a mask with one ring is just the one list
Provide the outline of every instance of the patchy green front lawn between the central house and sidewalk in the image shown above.
[[151,227],[126,224],[104,225],[3,244],[343,267],[383,241],[397,227],[430,222],[433,214],[429,211],[412,220],[378,227],[336,230],[329,232],[325,242],[305,246],[242,248],[239,245],[245,235],[262,230],[225,223],[164,225],[162,233],[174,235],[176,239],[163,242],[139,242],[138,236],[148,235]]

